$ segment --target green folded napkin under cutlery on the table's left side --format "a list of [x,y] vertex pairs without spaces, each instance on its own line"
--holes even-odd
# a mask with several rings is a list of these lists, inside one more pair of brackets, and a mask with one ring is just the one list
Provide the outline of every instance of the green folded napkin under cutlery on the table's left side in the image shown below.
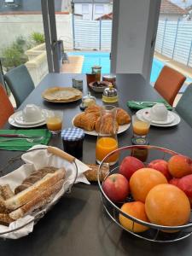
[[26,136],[39,136],[42,139],[35,139],[33,142],[25,138],[0,137],[0,149],[26,151],[34,145],[47,145],[51,137],[51,132],[47,129],[29,129],[29,130],[0,130],[0,134],[23,134]]

